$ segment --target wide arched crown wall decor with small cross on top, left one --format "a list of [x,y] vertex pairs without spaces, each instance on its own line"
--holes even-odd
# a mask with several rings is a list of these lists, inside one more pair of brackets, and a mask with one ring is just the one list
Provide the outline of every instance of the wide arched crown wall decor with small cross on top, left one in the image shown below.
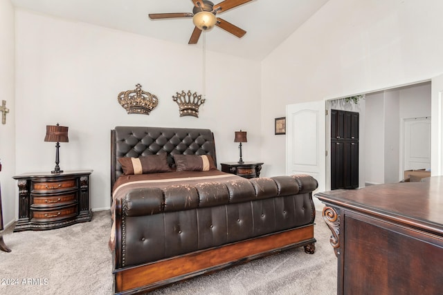
[[141,90],[141,84],[136,84],[134,90],[120,92],[117,99],[128,114],[149,115],[159,104],[159,99],[155,95]]

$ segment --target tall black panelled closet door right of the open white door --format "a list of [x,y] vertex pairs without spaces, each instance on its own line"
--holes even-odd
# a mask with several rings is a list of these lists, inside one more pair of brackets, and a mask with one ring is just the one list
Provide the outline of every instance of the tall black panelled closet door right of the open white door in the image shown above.
[[331,110],[331,189],[359,187],[359,113]]

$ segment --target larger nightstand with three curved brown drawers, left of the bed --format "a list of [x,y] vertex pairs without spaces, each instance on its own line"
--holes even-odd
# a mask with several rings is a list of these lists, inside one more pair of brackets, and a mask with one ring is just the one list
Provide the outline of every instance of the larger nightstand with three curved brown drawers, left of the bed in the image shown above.
[[89,175],[92,170],[25,173],[19,186],[19,220],[14,231],[44,230],[91,221]]

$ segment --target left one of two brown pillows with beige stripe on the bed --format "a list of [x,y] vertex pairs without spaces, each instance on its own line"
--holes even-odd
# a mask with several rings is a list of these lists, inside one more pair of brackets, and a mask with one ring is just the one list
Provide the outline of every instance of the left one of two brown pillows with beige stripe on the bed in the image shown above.
[[122,165],[125,175],[170,172],[171,169],[166,157],[166,153],[161,153],[159,155],[146,155],[138,158],[119,158],[118,162]]

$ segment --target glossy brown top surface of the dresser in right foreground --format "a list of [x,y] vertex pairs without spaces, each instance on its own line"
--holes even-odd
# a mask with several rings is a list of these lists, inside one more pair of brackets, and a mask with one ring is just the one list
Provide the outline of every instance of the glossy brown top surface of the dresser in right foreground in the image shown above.
[[368,213],[382,219],[402,220],[414,227],[431,227],[443,234],[443,176],[424,182],[379,184],[364,189],[325,191],[316,198],[327,204]]

